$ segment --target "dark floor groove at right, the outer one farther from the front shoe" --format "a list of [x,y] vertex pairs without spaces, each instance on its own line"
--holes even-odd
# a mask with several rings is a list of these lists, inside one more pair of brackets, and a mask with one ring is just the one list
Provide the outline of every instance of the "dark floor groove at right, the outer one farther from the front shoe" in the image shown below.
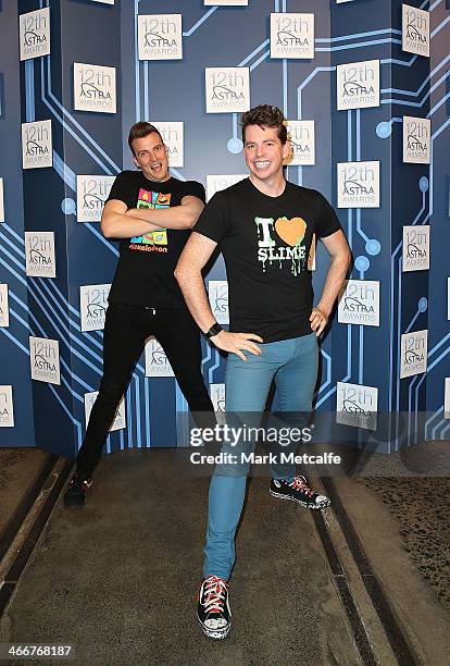
[[350,553],[361,574],[365,590],[372,604],[379,617],[379,621],[386,632],[392,652],[400,666],[417,666],[420,659],[413,653],[408,638],[404,637],[401,625],[387,599],[371,564],[362,547],[353,523],[346,511],[335,482],[330,478],[321,478],[321,481],[332,501],[332,506],[336,518],[340,525],[343,536],[349,546]]

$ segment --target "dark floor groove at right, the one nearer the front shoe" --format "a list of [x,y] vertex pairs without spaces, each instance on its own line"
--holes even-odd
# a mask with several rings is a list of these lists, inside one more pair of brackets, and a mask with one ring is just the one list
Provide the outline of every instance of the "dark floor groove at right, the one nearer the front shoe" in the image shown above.
[[374,651],[368,640],[365,627],[361,621],[358,608],[354,604],[353,597],[347,579],[343,574],[342,566],[339,557],[336,553],[335,546],[333,545],[328,530],[325,525],[324,517],[321,511],[312,511],[314,523],[318,535],[322,541],[325,554],[330,566],[336,588],[339,592],[341,604],[346,610],[350,628],[353,634],[353,640],[357,645],[358,652],[364,666],[377,666],[378,662],[375,658]]

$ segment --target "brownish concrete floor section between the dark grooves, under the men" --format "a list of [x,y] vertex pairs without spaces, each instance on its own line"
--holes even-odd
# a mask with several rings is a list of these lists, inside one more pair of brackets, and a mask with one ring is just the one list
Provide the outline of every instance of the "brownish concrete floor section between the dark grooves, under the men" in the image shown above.
[[60,503],[1,624],[73,644],[77,664],[359,664],[309,511],[254,479],[237,541],[234,627],[197,626],[208,479],[167,451],[104,458],[82,511]]

